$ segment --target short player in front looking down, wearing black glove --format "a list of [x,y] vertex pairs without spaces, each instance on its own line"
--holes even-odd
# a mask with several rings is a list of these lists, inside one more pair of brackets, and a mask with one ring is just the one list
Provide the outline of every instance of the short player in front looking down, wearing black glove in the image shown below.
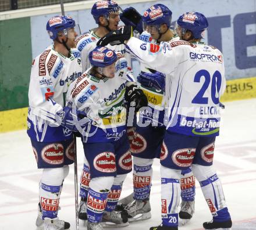
[[86,112],[91,121],[86,132],[80,130],[91,175],[87,229],[103,229],[102,221],[115,224],[110,227],[125,227],[129,225],[127,213],[114,211],[132,167],[124,102],[133,103],[138,110],[147,105],[147,99],[141,89],[129,82],[127,67],[116,71],[125,59],[122,53],[96,47],[88,59],[92,67],[67,92],[68,104]]

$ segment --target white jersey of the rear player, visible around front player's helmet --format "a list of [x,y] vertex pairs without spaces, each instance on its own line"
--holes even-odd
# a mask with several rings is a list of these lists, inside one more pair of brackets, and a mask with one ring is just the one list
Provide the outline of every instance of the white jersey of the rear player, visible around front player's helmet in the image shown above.
[[[94,31],[83,34],[76,39],[76,48],[81,53],[83,72],[88,70],[88,68],[91,66],[88,55],[97,46],[99,39],[100,38],[95,34]],[[126,67],[131,67],[131,57],[129,53],[126,53],[125,45],[107,45],[106,47],[125,56]],[[133,81],[133,79],[130,79],[130,81]]]

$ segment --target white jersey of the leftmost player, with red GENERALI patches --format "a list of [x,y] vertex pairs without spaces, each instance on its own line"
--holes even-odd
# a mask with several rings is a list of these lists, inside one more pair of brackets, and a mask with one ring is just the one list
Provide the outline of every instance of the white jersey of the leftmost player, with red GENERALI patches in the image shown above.
[[70,50],[65,57],[49,46],[33,60],[29,85],[29,137],[36,141],[59,141],[72,132],[55,121],[56,111],[65,106],[67,89],[81,76],[80,52]]

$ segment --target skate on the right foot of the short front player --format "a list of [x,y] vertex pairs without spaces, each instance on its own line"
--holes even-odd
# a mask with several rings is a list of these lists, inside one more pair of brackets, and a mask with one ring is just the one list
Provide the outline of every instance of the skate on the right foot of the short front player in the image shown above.
[[129,225],[128,214],[126,211],[104,211],[102,225],[104,228],[126,227]]

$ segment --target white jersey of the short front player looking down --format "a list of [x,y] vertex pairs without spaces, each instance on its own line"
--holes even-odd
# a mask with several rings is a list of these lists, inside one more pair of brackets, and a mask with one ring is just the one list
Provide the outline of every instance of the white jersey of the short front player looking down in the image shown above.
[[[89,68],[67,92],[67,104],[84,111],[91,120],[82,131],[83,141],[87,143],[116,141],[126,133],[126,109],[123,98],[126,82],[130,81],[130,70],[122,67],[125,57],[116,53],[116,72],[114,78],[99,79],[90,75]],[[83,127],[78,128],[81,132]]]

